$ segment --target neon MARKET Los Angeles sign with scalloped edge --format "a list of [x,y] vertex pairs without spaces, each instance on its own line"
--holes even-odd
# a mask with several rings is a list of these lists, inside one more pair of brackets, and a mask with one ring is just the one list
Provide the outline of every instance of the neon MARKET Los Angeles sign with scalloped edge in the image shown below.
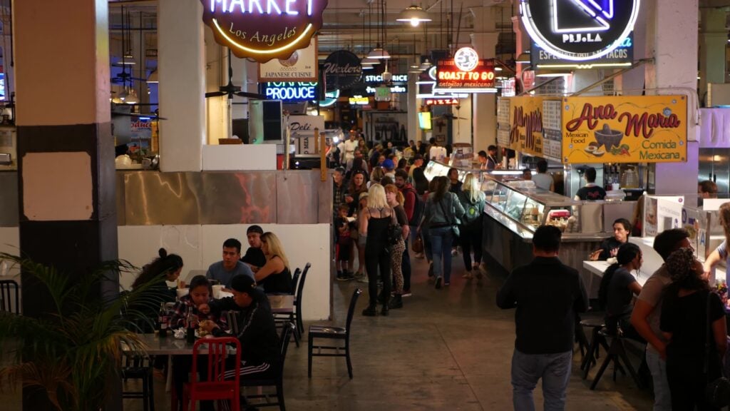
[[259,63],[288,59],[322,27],[328,0],[200,0],[215,41]]

